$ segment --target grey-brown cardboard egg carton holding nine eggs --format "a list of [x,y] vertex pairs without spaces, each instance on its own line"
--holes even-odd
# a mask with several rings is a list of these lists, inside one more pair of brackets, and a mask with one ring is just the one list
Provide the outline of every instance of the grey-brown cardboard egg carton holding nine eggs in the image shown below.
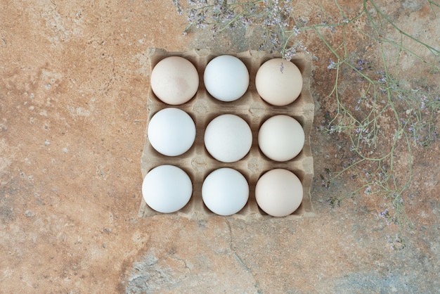
[[[202,184],[204,179],[212,171],[221,167],[231,167],[241,172],[250,186],[249,200],[240,212],[232,217],[240,219],[259,219],[261,217],[271,217],[263,210],[259,209],[255,200],[255,185],[257,180],[264,172],[276,168],[283,168],[294,172],[302,182],[304,195],[302,204],[299,208],[287,217],[304,217],[312,216],[313,208],[311,205],[310,188],[313,179],[313,157],[311,153],[309,134],[313,122],[314,103],[310,94],[310,75],[311,75],[311,58],[309,55],[297,54],[292,58],[292,62],[297,65],[302,72],[303,87],[302,93],[296,101],[288,106],[271,106],[263,101],[255,87],[255,75],[260,65],[271,58],[280,57],[279,55],[270,54],[265,51],[245,51],[242,53],[228,54],[235,56],[245,63],[250,73],[250,84],[244,96],[233,102],[222,102],[213,98],[205,89],[203,83],[203,73],[206,65],[210,60],[218,55],[213,55],[206,50],[194,50],[188,52],[168,52],[163,49],[148,49],[149,70],[153,68],[163,58],[169,56],[181,56],[188,59],[199,73],[199,88],[195,97],[187,103],[180,106],[170,106],[160,101],[151,87],[148,89],[148,120],[163,108],[175,107],[184,110],[193,118],[196,127],[195,143],[189,151],[183,155],[169,157],[161,155],[148,141],[145,129],[145,143],[141,159],[141,171],[143,177],[159,165],[176,165],[184,170],[193,182],[193,195],[188,204],[178,212],[172,215],[181,215],[190,219],[204,219],[216,216],[203,203],[202,200]],[[250,152],[238,162],[225,163],[219,162],[212,158],[207,152],[204,143],[205,129],[207,124],[222,114],[233,114],[242,117],[252,129],[252,148]],[[276,162],[268,159],[258,147],[258,131],[261,124],[273,115],[290,115],[294,117],[303,127],[305,134],[304,148],[297,157],[286,162]],[[162,215],[151,209],[142,199],[141,207],[138,212],[139,217],[150,217],[153,215]]]

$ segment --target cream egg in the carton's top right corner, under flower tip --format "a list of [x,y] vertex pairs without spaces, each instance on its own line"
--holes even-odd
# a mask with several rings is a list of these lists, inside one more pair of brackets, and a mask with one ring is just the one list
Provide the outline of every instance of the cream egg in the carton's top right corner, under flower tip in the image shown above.
[[295,63],[273,58],[263,63],[255,76],[255,87],[261,98],[274,106],[287,106],[302,91],[302,75]]

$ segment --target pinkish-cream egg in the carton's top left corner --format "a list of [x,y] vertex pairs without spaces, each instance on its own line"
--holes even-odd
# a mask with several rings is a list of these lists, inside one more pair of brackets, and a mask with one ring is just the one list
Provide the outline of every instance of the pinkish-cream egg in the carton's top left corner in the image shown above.
[[160,60],[151,72],[151,89],[164,103],[180,105],[190,101],[199,87],[199,74],[193,63],[180,56]]

